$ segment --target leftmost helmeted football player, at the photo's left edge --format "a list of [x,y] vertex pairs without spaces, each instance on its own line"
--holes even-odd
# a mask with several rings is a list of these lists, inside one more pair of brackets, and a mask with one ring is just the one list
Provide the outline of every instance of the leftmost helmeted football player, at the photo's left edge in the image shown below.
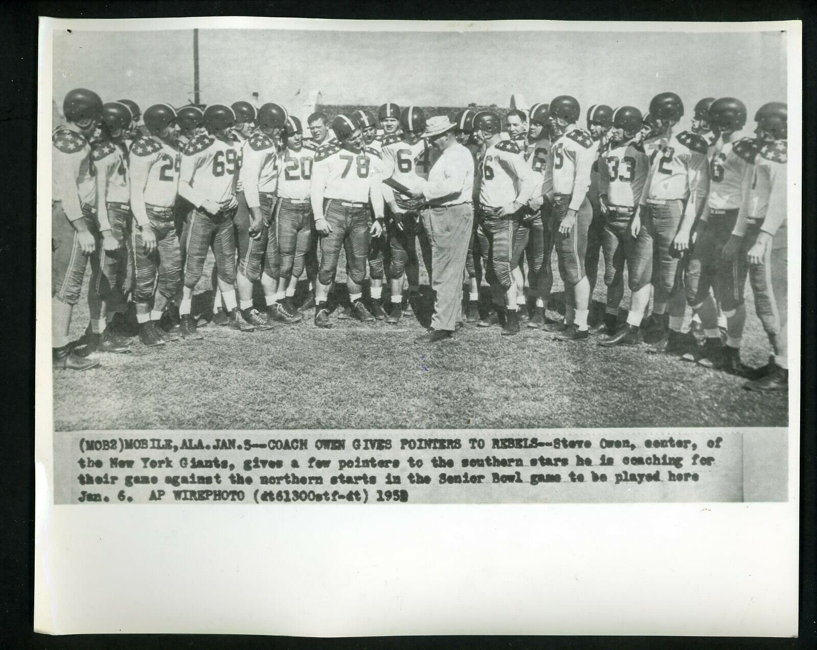
[[[75,88],[65,95],[63,115],[65,125],[51,134],[51,364],[54,369],[87,370],[99,360],[79,356],[68,337],[88,257],[96,250],[96,185],[88,139],[102,119],[102,100],[93,91]],[[94,202],[88,203],[89,198]]]

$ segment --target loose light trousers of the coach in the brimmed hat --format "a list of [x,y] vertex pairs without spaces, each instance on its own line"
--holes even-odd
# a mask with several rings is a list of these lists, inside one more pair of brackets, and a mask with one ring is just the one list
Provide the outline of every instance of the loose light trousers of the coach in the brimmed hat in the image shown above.
[[468,241],[474,224],[471,203],[457,206],[428,207],[422,210],[422,223],[431,244],[431,289],[435,291],[431,327],[453,332],[462,321],[462,272],[468,254]]

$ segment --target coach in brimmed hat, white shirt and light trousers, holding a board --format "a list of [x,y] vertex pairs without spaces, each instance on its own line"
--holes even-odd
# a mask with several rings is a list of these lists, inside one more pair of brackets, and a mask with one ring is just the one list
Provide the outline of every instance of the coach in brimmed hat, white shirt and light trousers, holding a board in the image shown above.
[[462,273],[474,222],[471,203],[474,158],[459,144],[454,124],[444,115],[431,117],[423,136],[436,149],[422,190],[422,224],[431,243],[431,289],[435,291],[431,329],[415,343],[436,343],[449,338],[462,322]]

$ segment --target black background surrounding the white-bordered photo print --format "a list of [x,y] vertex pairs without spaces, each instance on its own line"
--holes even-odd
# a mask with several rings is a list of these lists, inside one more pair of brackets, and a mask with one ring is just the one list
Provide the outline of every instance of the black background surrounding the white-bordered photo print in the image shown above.
[[[757,2],[3,2],[0,11],[0,648],[815,648],[815,3]],[[294,639],[194,635],[35,635],[33,621],[33,323],[37,17],[275,15],[357,20],[804,20],[801,608],[798,639],[398,637]],[[524,56],[520,65],[524,65]],[[535,56],[536,53],[530,53]],[[168,62],[172,65],[172,61]],[[729,65],[713,61],[712,65]],[[705,74],[689,70],[689,74]],[[795,390],[795,387],[792,387]],[[600,538],[600,543],[603,540]],[[706,589],[706,586],[702,586]],[[229,604],[225,604],[229,607]],[[587,612],[592,616],[592,612]]]

